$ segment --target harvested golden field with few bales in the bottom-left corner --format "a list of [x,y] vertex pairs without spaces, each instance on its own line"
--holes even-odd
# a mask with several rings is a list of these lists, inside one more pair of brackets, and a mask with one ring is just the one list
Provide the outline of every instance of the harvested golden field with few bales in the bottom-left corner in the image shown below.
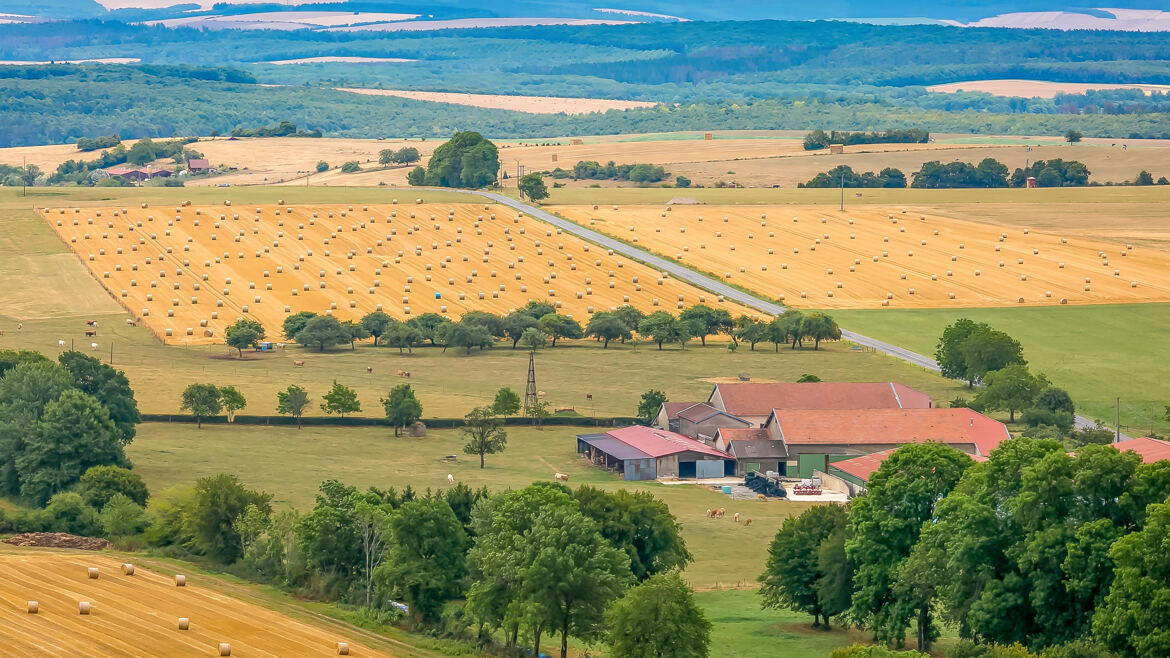
[[[89,568],[98,569],[91,578]],[[36,612],[29,612],[29,602]],[[82,602],[89,612],[81,614]],[[180,618],[188,621],[179,630]],[[388,656],[333,631],[108,555],[39,550],[0,555],[0,650],[6,656]]]

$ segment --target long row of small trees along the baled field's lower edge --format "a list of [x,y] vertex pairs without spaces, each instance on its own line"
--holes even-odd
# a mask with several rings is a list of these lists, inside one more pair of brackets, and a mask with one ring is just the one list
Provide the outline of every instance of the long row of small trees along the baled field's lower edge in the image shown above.
[[[841,337],[841,330],[832,317],[815,313],[805,315],[797,310],[762,322],[749,316],[732,318],[727,310],[707,304],[695,304],[677,316],[665,310],[646,315],[634,307],[624,306],[594,313],[583,327],[572,317],[558,314],[552,304],[536,301],[503,316],[473,310],[463,314],[459,322],[434,313],[402,322],[383,311],[370,313],[357,322],[342,322],[331,315],[301,311],[284,318],[282,329],[287,338],[322,351],[343,343],[352,347],[356,341],[372,337],[374,345],[380,342],[399,351],[429,344],[443,350],[463,348],[466,354],[470,354],[473,348],[490,348],[497,340],[511,341],[512,349],[524,347],[530,350],[549,343],[555,348],[557,341],[563,338],[591,337],[603,348],[608,348],[613,341],[636,343],[648,340],[661,350],[665,344],[684,347],[694,338],[706,345],[708,337],[725,335],[731,338],[732,349],[743,341],[755,350],[760,342],[776,343],[778,349],[779,343],[791,341],[794,349],[804,347],[806,340],[813,341],[813,349],[818,349],[821,341]],[[240,349],[241,355],[242,348],[263,337],[263,328],[253,321],[238,321],[227,330],[228,344]]]

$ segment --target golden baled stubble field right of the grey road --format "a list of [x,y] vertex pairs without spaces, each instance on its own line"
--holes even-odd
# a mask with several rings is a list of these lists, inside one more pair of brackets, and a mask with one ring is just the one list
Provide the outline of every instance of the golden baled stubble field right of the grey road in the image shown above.
[[563,206],[556,211],[796,307],[1170,301],[1170,252],[909,208]]

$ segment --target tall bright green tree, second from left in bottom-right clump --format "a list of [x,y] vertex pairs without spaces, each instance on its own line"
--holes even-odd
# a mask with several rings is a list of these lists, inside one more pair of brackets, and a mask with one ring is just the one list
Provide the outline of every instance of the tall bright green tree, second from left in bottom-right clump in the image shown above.
[[896,577],[938,501],[970,465],[971,458],[944,444],[904,445],[870,475],[868,493],[854,499],[845,542],[847,557],[858,566],[851,615],[878,642],[901,644],[916,618],[918,649],[929,650],[935,636],[931,601],[897,592]]

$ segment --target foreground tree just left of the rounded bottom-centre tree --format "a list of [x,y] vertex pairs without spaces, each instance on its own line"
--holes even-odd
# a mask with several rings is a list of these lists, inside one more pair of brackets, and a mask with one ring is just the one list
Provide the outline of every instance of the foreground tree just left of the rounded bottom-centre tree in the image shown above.
[[537,624],[560,633],[566,658],[570,635],[585,642],[601,635],[605,609],[631,581],[629,558],[591,519],[563,507],[542,509],[525,540],[517,556],[521,599]]

